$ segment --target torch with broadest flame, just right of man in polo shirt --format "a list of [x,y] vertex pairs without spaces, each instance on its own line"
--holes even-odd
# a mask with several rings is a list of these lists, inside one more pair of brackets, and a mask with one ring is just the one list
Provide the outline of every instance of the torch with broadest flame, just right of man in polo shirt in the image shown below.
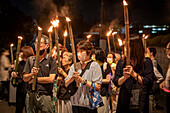
[[54,31],[55,31],[55,43],[56,43],[56,47],[57,47],[58,67],[61,68],[60,52],[59,52],[59,47],[58,47],[58,26],[59,26],[59,20],[51,21],[51,23],[54,26]]

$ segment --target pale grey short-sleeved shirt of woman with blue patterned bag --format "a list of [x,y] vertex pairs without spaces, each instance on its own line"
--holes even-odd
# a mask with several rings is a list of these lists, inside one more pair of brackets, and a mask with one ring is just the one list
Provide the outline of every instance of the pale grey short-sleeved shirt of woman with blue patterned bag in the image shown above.
[[[67,78],[65,78],[65,80],[68,80],[73,75],[73,72],[75,72],[74,64],[71,66],[68,76]],[[82,69],[79,66],[78,66],[78,72],[79,73],[82,72]],[[90,68],[86,69],[86,71],[82,75],[82,78],[90,82],[102,84],[102,71],[100,65],[96,62],[92,62]],[[89,87],[87,87],[86,85],[82,85],[80,83],[77,92],[71,97],[72,105],[90,107],[89,90],[90,90]]]

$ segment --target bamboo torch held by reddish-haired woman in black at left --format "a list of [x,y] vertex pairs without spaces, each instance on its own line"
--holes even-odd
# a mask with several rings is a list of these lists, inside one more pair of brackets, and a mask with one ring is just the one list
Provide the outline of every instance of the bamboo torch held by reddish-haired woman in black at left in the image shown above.
[[[15,72],[18,71],[18,59],[19,59],[19,53],[20,53],[20,49],[21,49],[21,40],[22,40],[22,37],[21,37],[21,36],[18,36]],[[16,79],[14,78],[12,82],[13,82],[13,84],[16,84]]]

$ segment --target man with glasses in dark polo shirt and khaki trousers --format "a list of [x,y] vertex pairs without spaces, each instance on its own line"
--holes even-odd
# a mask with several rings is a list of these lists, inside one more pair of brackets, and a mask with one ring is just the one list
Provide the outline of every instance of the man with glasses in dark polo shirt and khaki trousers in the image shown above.
[[[38,48],[38,37],[35,41],[35,50],[40,50],[38,57],[38,68],[34,67],[35,57],[29,57],[24,68],[23,80],[29,82],[29,90],[26,95],[26,106],[30,113],[52,113],[52,88],[57,73],[57,63],[47,54],[49,47],[48,37],[42,35],[40,38],[40,48]],[[34,75],[36,77],[36,88],[31,88]]]

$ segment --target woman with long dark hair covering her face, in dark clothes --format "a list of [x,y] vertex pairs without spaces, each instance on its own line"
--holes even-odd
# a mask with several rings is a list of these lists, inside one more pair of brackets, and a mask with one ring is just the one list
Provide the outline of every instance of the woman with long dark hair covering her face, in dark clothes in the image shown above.
[[152,61],[144,56],[141,37],[130,36],[130,65],[118,61],[113,82],[120,87],[117,113],[148,113],[149,86],[153,83]]

